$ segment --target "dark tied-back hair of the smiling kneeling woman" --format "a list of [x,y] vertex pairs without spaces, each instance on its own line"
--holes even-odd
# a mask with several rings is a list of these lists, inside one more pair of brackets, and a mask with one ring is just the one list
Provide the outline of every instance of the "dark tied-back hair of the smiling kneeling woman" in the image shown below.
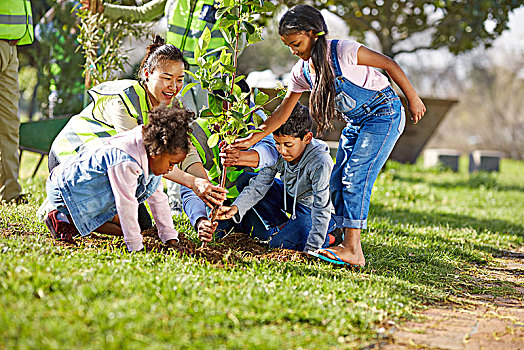
[[140,69],[138,70],[138,78],[144,82],[144,68],[147,68],[151,74],[158,66],[159,63],[166,61],[173,62],[184,62],[184,69],[189,69],[189,63],[184,58],[182,51],[175,45],[166,44],[165,40],[160,36],[155,36],[153,43],[147,47],[146,55],[140,63]]

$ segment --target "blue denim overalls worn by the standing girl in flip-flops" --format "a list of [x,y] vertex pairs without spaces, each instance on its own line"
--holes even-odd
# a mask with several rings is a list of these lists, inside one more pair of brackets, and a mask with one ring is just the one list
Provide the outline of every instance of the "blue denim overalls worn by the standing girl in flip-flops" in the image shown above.
[[[347,125],[340,136],[331,174],[331,200],[337,227],[365,229],[373,184],[404,131],[406,116],[391,86],[381,91],[369,90],[342,75],[337,44],[338,40],[331,41],[335,106]],[[303,72],[312,86],[306,62]]]

